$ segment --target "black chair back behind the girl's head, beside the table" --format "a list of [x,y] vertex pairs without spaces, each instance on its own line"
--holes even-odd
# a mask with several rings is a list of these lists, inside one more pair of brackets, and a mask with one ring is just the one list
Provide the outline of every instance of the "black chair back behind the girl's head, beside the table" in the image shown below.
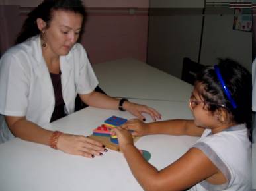
[[181,80],[194,85],[196,74],[204,67],[204,65],[191,61],[191,59],[187,57],[183,58]]

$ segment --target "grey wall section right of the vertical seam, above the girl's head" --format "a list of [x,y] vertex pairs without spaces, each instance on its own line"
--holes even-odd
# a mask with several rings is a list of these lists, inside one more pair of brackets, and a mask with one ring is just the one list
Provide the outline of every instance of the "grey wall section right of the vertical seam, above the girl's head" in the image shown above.
[[233,9],[206,9],[201,63],[213,65],[216,57],[230,57],[251,71],[252,33],[233,30]]

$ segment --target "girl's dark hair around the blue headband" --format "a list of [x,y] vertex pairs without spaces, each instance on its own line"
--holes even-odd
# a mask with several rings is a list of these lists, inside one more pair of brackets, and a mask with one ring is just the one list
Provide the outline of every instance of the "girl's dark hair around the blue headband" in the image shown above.
[[206,67],[196,76],[195,84],[202,84],[203,87],[199,90],[200,96],[206,102],[209,111],[214,112],[220,109],[221,105],[225,105],[233,120],[238,124],[246,123],[251,132],[251,74],[231,59],[219,59],[218,68],[237,108],[232,107],[224,93],[214,67]]

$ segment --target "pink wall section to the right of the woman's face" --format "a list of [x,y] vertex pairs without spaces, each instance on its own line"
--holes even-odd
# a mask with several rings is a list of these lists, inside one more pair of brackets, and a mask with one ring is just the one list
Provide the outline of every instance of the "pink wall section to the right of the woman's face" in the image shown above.
[[89,12],[81,43],[91,63],[124,57],[146,61],[148,10],[145,15]]

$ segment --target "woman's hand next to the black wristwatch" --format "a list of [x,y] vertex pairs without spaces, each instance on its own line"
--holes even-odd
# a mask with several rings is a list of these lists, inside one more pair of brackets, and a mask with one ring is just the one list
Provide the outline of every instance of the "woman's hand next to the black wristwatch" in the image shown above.
[[132,103],[130,101],[124,101],[124,109],[129,111],[132,115],[138,117],[138,119],[145,121],[146,118],[142,115],[142,113],[148,113],[151,115],[153,121],[157,119],[161,119],[161,114],[158,113],[155,109],[148,107],[146,105],[140,105],[136,103]]

